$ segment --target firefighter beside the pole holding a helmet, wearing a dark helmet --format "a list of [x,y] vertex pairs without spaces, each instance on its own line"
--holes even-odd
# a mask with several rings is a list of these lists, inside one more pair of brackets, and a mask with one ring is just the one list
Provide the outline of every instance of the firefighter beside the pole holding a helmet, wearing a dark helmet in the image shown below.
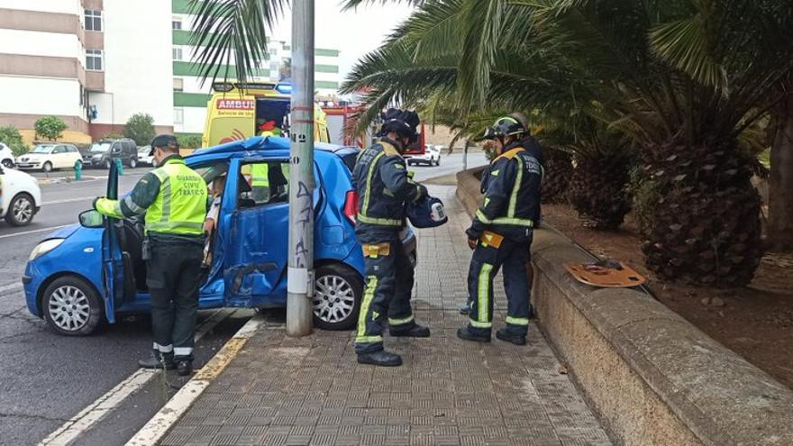
[[360,152],[352,170],[359,196],[355,232],[366,264],[355,352],[362,364],[393,367],[402,358],[383,350],[386,323],[391,336],[430,335],[415,322],[410,307],[414,270],[399,237],[406,226],[406,203],[424,198],[427,189],[410,178],[402,158],[418,137],[418,115],[389,109],[383,119],[379,140]]

